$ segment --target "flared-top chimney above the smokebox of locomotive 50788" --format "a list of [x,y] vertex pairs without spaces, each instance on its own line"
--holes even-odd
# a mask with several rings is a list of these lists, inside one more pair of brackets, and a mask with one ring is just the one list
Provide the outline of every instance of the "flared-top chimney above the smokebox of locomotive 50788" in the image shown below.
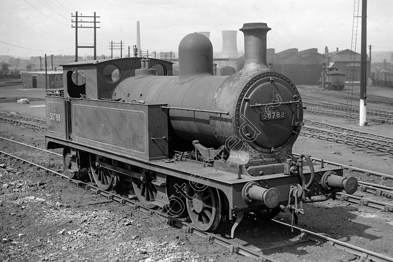
[[247,23],[239,29],[244,33],[244,67],[240,73],[270,70],[266,62],[266,35],[270,29],[266,23]]

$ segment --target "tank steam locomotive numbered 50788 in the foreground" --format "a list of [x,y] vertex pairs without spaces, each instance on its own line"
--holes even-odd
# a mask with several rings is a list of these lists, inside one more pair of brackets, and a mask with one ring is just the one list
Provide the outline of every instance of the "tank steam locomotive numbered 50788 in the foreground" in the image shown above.
[[200,33],[181,40],[178,76],[171,62],[149,58],[63,65],[64,96],[46,97],[46,147],[63,148],[70,178],[87,167],[102,190],[132,183],[143,205],[188,212],[200,230],[236,219],[232,237],[247,212],[296,216],[303,203],[353,194],[357,180],[342,169],[292,156],[303,125],[298,89],[266,64],[270,28],[240,30],[245,64],[230,76],[213,74]]

